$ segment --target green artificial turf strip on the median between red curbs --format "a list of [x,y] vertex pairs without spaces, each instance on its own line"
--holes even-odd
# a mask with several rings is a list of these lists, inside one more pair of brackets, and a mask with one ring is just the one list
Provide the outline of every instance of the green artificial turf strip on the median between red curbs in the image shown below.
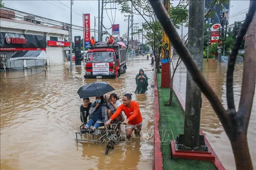
[[[161,87],[161,73],[156,73],[157,75],[157,90],[159,99],[159,112],[160,112],[160,123],[159,123],[159,133],[161,136],[161,151],[163,157],[163,169],[178,169],[178,170],[216,170],[214,163],[210,161],[199,161],[199,160],[189,160],[181,158],[170,158],[170,142],[183,134],[184,130],[184,111],[182,106],[179,104],[179,100],[173,92],[172,104],[171,106],[166,106],[170,90],[169,88]],[[161,131],[162,130],[162,131]],[[169,131],[166,131],[169,130]],[[169,140],[168,140],[169,139]],[[167,141],[168,140],[168,141]],[[167,142],[164,142],[167,141]]]

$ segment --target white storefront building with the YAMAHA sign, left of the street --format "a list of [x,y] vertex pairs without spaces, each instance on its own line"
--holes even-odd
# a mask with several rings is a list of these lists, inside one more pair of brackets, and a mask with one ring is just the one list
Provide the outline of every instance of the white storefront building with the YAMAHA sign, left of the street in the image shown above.
[[[16,20],[2,16],[0,17],[0,68],[64,64],[65,50],[69,50],[70,46],[70,42],[67,42],[67,30],[60,26],[42,25],[33,19]],[[30,50],[44,50],[49,59],[10,61],[10,57],[17,51]]]

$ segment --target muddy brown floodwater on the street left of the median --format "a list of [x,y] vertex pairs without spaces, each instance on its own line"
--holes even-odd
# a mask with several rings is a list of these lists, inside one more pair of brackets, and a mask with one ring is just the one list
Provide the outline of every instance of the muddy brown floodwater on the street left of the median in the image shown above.
[[[154,148],[154,72],[150,61],[128,59],[127,70],[117,79],[84,79],[84,68],[69,63],[51,68],[39,68],[34,76],[23,69],[0,73],[0,135],[1,169],[152,169]],[[74,64],[74,63],[73,63]],[[135,76],[139,69],[149,78],[146,94],[134,94]],[[41,70],[40,70],[41,69]],[[42,69],[49,72],[40,73]],[[35,69],[32,70],[35,74]],[[61,73],[60,73],[61,72]],[[5,79],[19,78],[20,79]],[[79,131],[80,105],[77,90],[94,81],[106,81],[120,96],[132,93],[139,102],[143,125],[141,137],[114,144],[114,150],[105,155],[103,145],[76,143]],[[110,94],[110,93],[109,93]],[[94,97],[90,98],[94,101]],[[124,125],[121,125],[124,130]],[[125,139],[125,132],[122,132]]]

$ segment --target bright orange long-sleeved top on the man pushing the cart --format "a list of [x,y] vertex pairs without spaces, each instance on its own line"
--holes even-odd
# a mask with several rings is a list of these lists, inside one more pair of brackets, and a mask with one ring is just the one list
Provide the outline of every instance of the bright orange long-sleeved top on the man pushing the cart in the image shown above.
[[122,111],[124,111],[124,114],[126,115],[127,119],[129,119],[130,125],[137,125],[142,122],[142,116],[139,108],[139,103],[132,101],[131,107],[124,106],[124,104],[121,104],[117,111],[110,117],[111,120],[114,120]]

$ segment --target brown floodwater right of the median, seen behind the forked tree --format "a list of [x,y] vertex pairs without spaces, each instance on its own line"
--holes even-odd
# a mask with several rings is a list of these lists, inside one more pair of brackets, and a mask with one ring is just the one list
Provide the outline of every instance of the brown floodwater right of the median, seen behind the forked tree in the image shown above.
[[[173,59],[174,63],[177,57]],[[176,64],[175,64],[176,65]],[[203,74],[212,89],[216,92],[225,109],[227,109],[226,100],[226,71],[227,64],[215,62],[214,60],[203,61]],[[182,99],[186,100],[186,66],[181,63],[174,75],[174,86],[180,92]],[[243,78],[243,63],[236,63],[234,69],[234,101],[236,111],[238,110],[241,84]],[[253,168],[256,169],[256,91],[254,93],[253,107],[248,126],[248,145],[250,150]],[[219,121],[216,113],[213,111],[208,99],[202,94],[202,109],[201,109],[201,129],[206,135],[212,148],[216,152],[219,160],[228,170],[236,169],[234,156],[229,142],[228,136]]]

